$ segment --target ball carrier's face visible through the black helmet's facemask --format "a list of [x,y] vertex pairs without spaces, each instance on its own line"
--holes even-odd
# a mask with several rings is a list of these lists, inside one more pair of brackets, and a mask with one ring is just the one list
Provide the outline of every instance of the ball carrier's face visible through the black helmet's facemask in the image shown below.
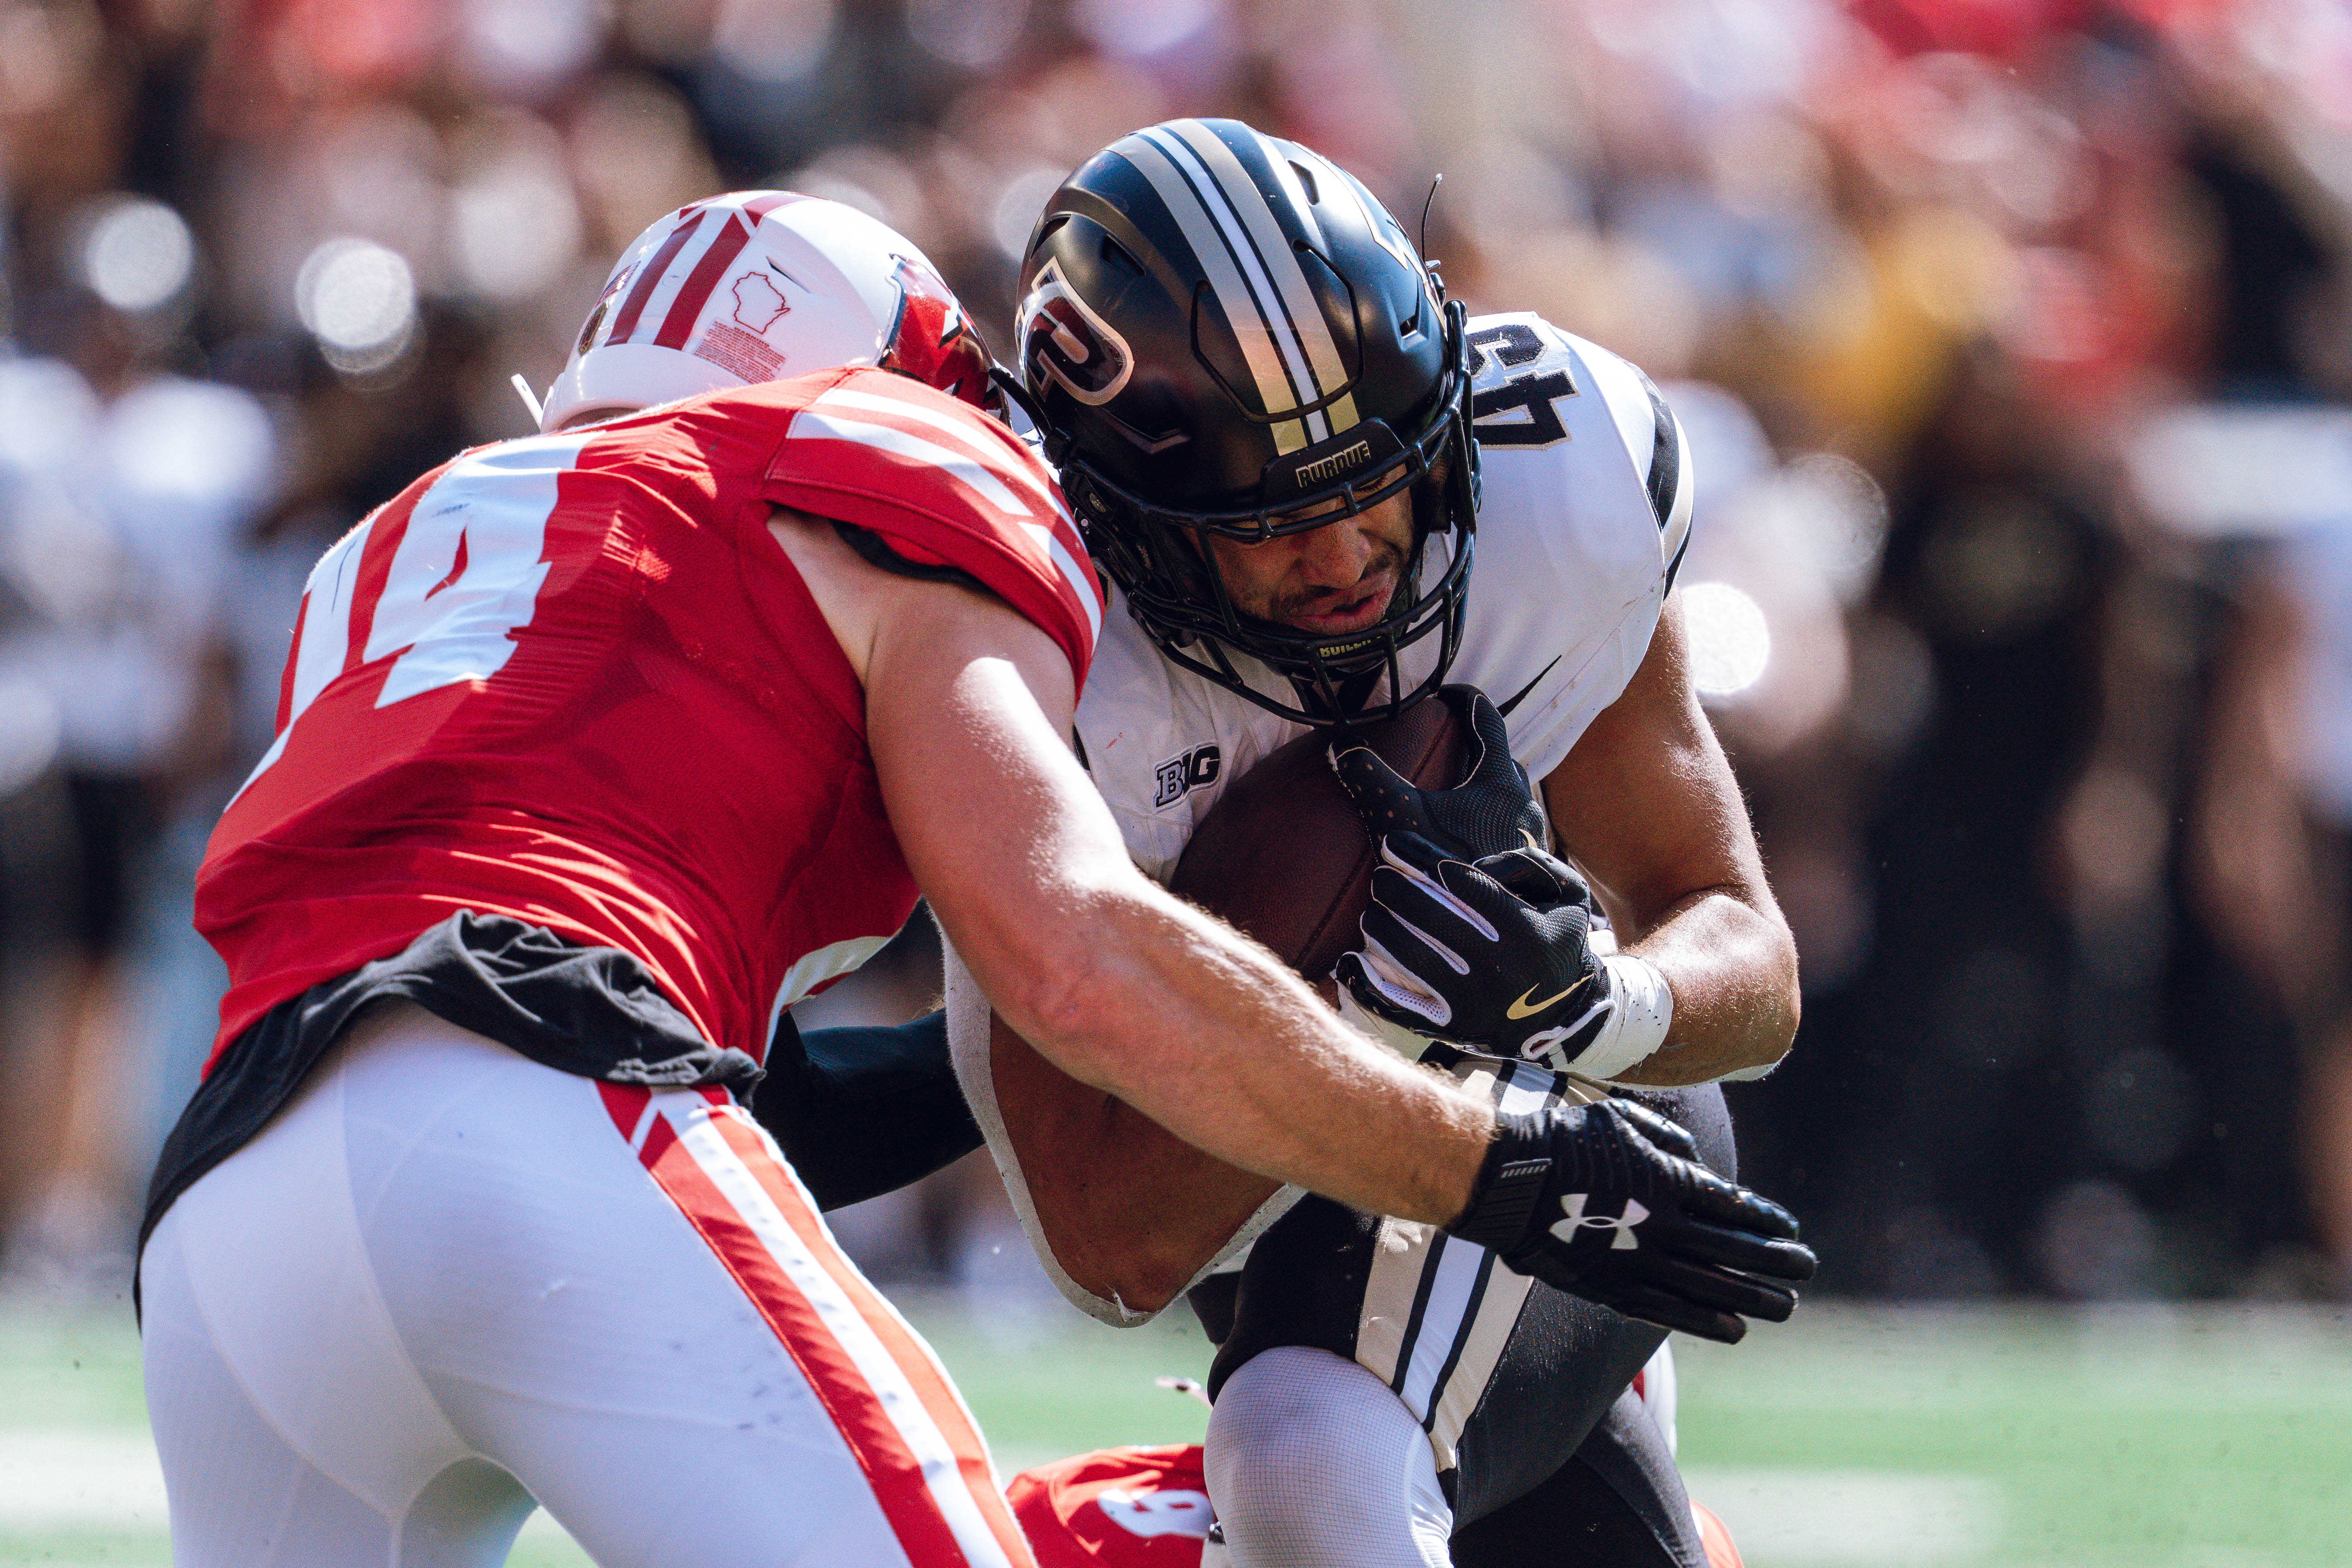
[[[1338,512],[1338,503],[1319,510]],[[1258,543],[1211,534],[1209,548],[1237,611],[1343,637],[1378,623],[1397,595],[1414,555],[1414,494],[1402,489],[1352,517]]]

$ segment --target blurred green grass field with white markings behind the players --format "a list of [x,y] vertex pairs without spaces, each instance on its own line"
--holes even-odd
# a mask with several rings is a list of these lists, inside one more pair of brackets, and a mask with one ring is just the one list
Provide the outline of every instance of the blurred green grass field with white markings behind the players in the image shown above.
[[[1190,1321],[976,1324],[917,1300],[1011,1472],[1197,1439]],[[1682,1342],[1682,1462],[1750,1568],[2352,1563],[2352,1316],[2277,1309],[1877,1312],[1811,1302]],[[167,1561],[120,1312],[0,1309],[0,1563]],[[586,1559],[546,1516],[515,1563]]]

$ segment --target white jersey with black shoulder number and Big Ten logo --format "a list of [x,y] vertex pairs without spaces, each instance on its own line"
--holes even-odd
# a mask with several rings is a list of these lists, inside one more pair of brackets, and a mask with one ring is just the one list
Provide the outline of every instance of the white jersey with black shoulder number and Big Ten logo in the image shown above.
[[[1691,527],[1682,428],[1642,371],[1538,315],[1472,317],[1470,348],[1484,491],[1446,679],[1503,710],[1512,755],[1543,778],[1649,651]],[[1120,609],[1124,595],[1103,616],[1077,741],[1129,853],[1164,882],[1225,783],[1305,726],[1167,661]],[[1406,684],[1435,668],[1437,642],[1406,649]],[[1298,701],[1258,661],[1232,663]]]

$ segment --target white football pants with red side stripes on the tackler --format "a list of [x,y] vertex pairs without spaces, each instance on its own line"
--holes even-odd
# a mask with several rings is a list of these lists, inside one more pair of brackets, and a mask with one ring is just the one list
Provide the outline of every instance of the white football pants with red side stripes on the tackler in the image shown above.
[[143,1255],[179,1568],[1028,1568],[969,1413],[724,1091],[372,1013]]

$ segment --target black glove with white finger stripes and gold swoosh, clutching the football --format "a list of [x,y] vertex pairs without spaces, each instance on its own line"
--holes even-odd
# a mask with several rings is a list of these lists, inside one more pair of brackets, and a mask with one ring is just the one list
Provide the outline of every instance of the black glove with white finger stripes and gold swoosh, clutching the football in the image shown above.
[[1334,969],[1348,994],[1414,1034],[1573,1065],[1616,1009],[1576,867],[1531,846],[1465,865],[1416,832],[1381,860],[1364,947]]

